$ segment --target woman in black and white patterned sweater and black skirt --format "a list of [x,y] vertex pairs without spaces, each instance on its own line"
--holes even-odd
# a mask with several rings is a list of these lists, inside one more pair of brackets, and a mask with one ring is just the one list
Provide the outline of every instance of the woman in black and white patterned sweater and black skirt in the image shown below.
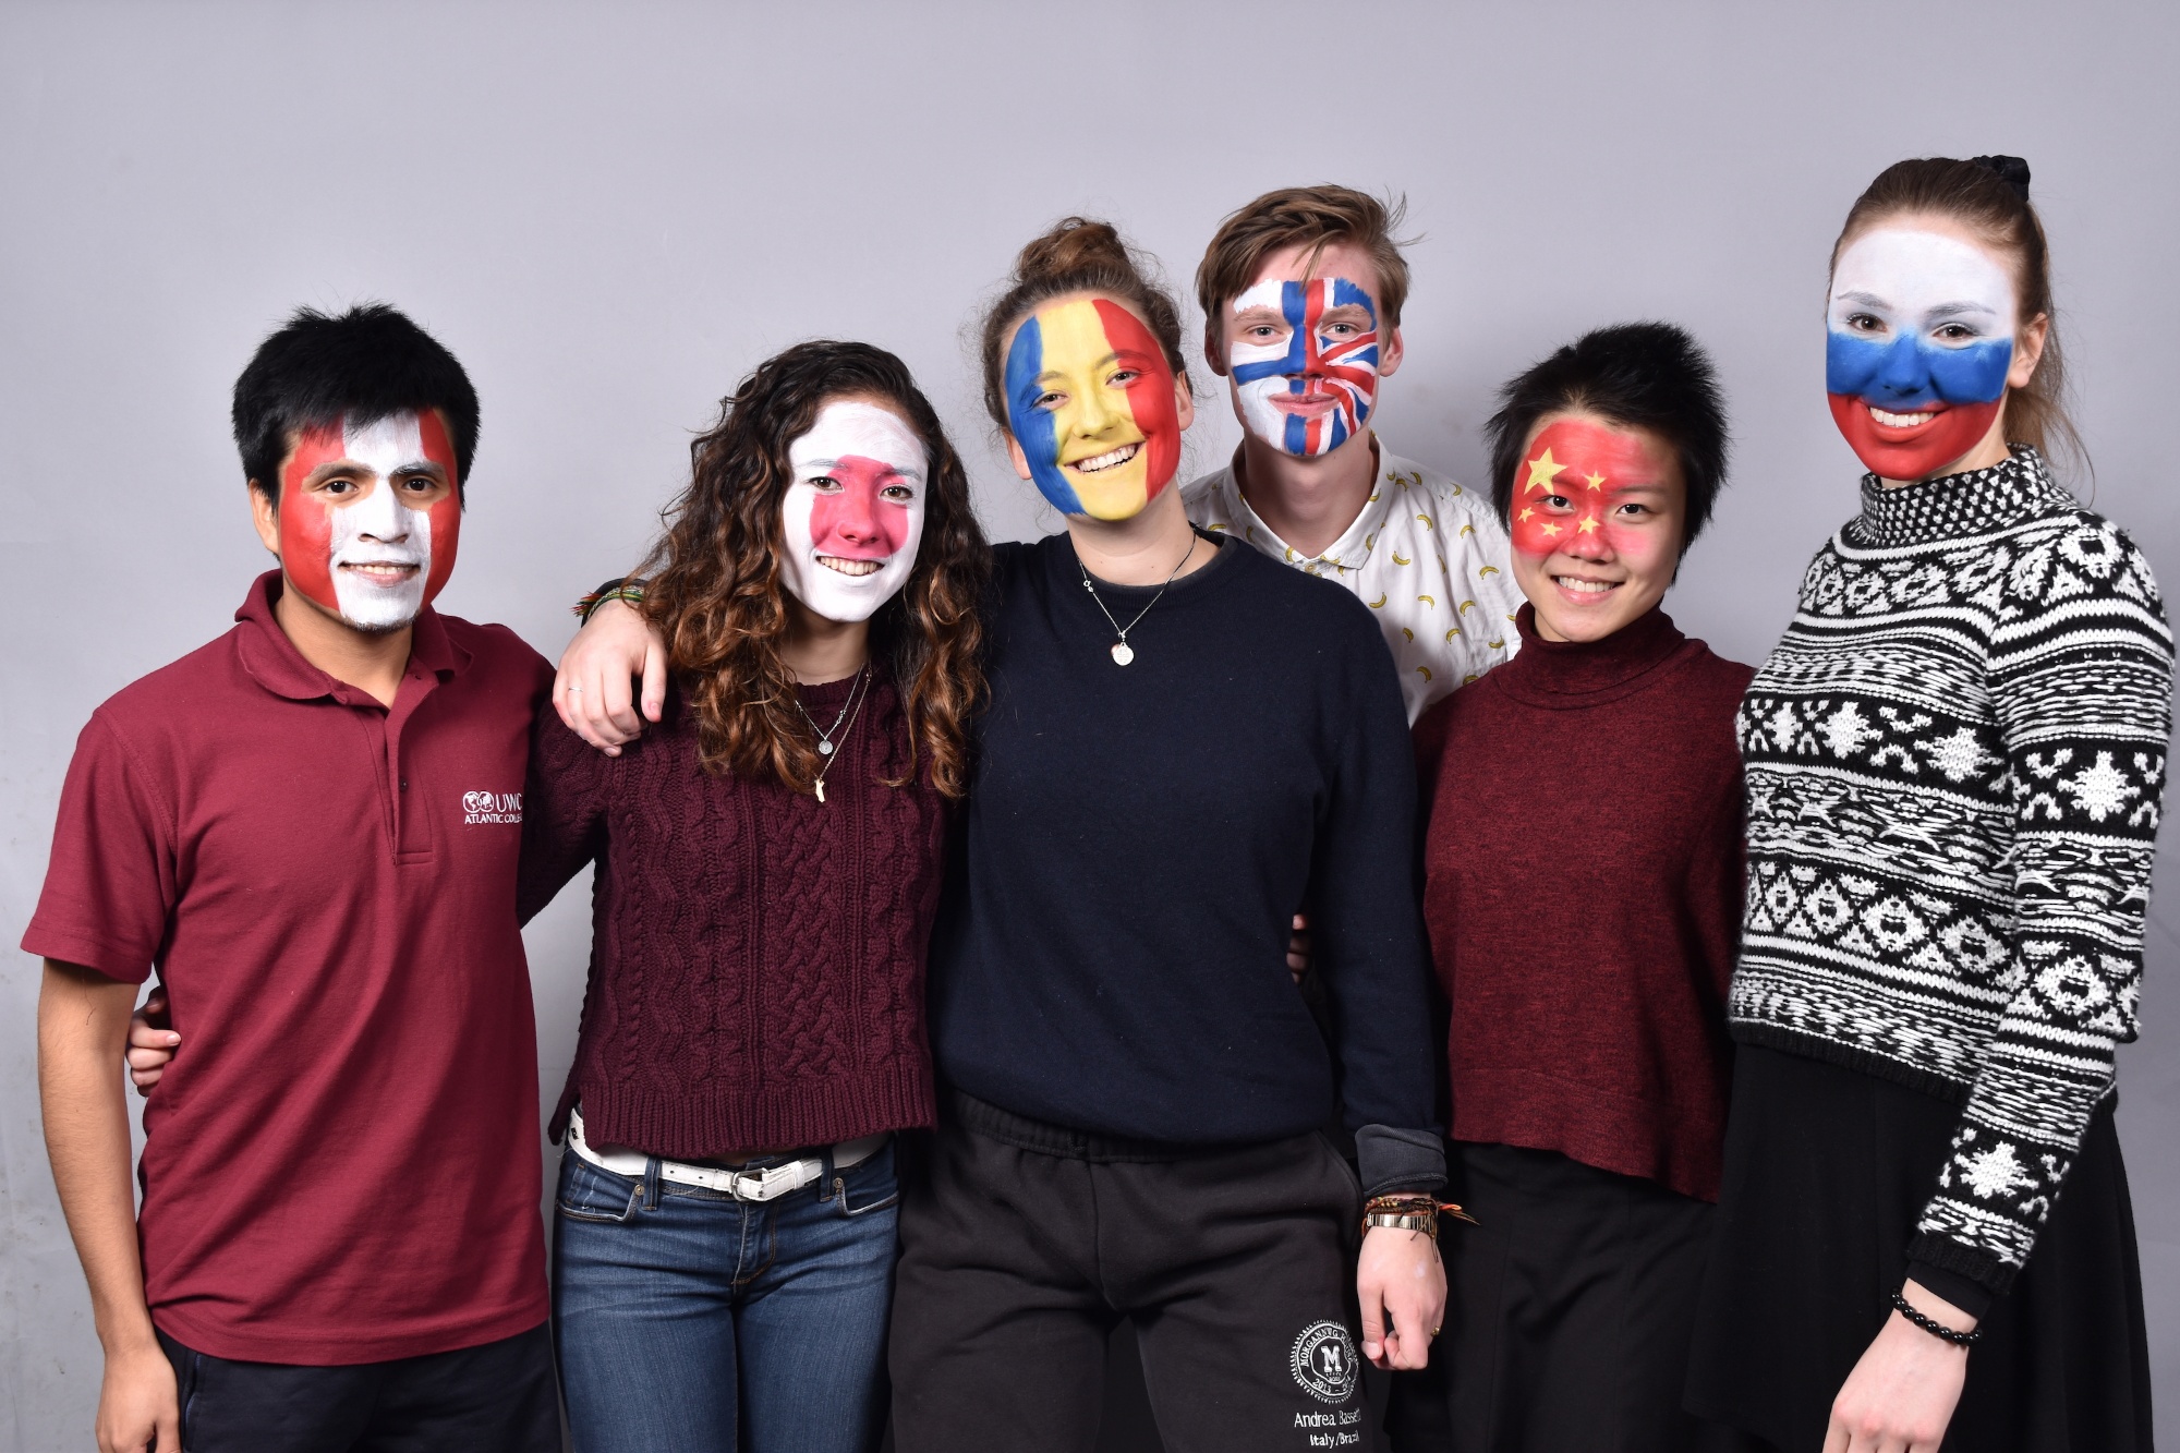
[[2171,631],[2051,476],[2019,157],[1901,161],[1831,253],[1862,513],[1737,735],[1748,897],[1690,1407],[1777,1449],[2149,1449],[2115,1045],[2134,1038]]

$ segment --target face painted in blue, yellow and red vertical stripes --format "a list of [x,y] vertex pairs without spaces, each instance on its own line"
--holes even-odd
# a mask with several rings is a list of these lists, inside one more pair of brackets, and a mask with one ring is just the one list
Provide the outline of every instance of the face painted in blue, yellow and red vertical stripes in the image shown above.
[[1129,519],[1182,463],[1173,367],[1121,303],[1040,308],[1007,349],[1007,423],[1029,478],[1064,515]]

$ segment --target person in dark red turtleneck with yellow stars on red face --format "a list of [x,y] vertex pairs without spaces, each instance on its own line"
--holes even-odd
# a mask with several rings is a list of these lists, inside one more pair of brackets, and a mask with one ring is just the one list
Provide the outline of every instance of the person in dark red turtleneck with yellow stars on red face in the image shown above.
[[[1663,613],[1724,482],[1676,327],[1604,327],[1500,393],[1522,650],[1415,726],[1424,921],[1452,1006],[1445,1335],[1395,1449],[1685,1453],[1727,1117],[1748,668]],[[1716,1436],[1716,1431],[1713,1431]]]

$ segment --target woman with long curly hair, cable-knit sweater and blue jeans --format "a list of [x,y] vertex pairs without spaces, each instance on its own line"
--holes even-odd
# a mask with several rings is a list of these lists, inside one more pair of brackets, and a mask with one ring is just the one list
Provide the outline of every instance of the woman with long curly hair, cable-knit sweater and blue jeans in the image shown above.
[[523,914],[597,864],[552,1126],[586,1453],[879,1442],[892,1137],[935,1113],[924,940],[988,569],[900,360],[787,349],[695,441],[641,591],[610,589],[658,633],[661,722],[610,757],[538,722]]

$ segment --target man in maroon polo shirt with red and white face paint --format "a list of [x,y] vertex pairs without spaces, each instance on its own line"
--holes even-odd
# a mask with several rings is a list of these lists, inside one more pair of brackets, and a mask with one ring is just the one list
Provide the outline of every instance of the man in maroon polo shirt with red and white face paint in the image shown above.
[[[235,384],[279,569],[70,764],[24,949],[100,1449],[560,1446],[512,912],[549,670],[432,609],[475,436],[405,316],[299,312]],[[192,1049],[135,1213],[111,1065],[153,969]]]

